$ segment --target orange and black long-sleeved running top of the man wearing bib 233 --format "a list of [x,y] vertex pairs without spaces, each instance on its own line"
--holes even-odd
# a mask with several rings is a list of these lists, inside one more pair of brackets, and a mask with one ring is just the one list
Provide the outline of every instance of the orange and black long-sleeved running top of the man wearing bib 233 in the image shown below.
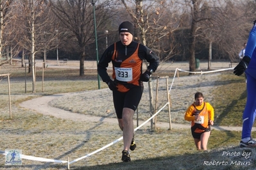
[[110,80],[107,73],[108,63],[112,62],[112,78],[118,83],[118,91],[126,92],[133,86],[141,86],[142,60],[149,62],[148,69],[157,70],[158,56],[148,47],[137,42],[123,45],[116,42],[103,53],[98,63],[98,73],[104,82]]

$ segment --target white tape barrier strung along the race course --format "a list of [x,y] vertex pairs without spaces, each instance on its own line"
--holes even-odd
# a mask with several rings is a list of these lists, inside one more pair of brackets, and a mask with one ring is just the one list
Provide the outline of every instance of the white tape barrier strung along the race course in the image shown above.
[[[221,69],[221,70],[212,70],[212,71],[208,71],[208,72],[188,72],[185,70],[182,70],[180,68],[176,68],[175,70],[175,75],[173,77],[173,82],[175,81],[175,77],[176,77],[176,72],[177,70],[181,71],[181,72],[188,72],[188,73],[213,73],[213,72],[221,72],[221,71],[226,71],[226,70],[232,70],[234,68],[226,68],[226,69]],[[171,83],[171,88],[173,86],[173,82]],[[171,91],[171,88],[169,89],[169,91]],[[146,123],[148,123],[148,121],[150,121],[152,118],[154,118],[160,111],[162,111],[162,109],[164,109],[164,107],[166,107],[166,105],[169,104],[168,102],[155,114],[153,114],[153,116],[151,116],[148,120],[144,121],[144,123],[142,123],[141,125],[139,125],[139,127],[135,128],[134,131],[138,130],[139,128],[141,128],[142,126],[144,126]],[[56,163],[68,163],[68,164],[73,164],[74,162],[78,162],[79,160],[83,159],[83,158],[87,158],[90,157],[90,155],[94,155],[95,153],[98,153],[101,150],[104,150],[105,148],[108,148],[108,146],[111,146],[112,144],[115,144],[119,141],[123,140],[123,137],[120,137],[119,139],[116,139],[115,141],[113,141],[112,143],[107,144],[106,146],[103,146],[102,148],[99,148],[96,151],[93,151],[92,153],[89,153],[83,157],[80,158],[76,158],[75,160],[68,162],[65,160],[55,160],[55,159],[50,159],[50,158],[40,158],[40,157],[32,157],[32,156],[28,156],[28,155],[22,155],[21,154],[21,158],[25,158],[25,159],[29,159],[29,160],[37,160],[37,161],[44,161],[44,162],[56,162]],[[5,151],[0,151],[0,154],[2,155],[6,155],[7,153]]]

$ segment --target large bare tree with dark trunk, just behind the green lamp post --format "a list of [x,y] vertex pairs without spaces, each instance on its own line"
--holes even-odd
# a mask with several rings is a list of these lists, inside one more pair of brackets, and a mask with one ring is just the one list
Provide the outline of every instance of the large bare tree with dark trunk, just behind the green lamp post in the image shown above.
[[[53,12],[62,22],[62,26],[71,31],[76,37],[76,46],[80,52],[80,76],[82,76],[84,75],[84,61],[86,56],[85,47],[95,40],[92,1],[50,0],[49,2],[53,6]],[[111,12],[112,7],[110,4],[115,3],[112,0],[108,0],[97,4],[97,15],[101,16],[97,17],[97,27],[107,23],[108,19],[114,15],[114,12]]]

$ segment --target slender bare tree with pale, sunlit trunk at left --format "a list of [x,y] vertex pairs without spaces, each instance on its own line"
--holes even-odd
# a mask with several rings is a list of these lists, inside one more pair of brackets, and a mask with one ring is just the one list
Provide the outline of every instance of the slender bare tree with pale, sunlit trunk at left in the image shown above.
[[35,93],[35,57],[39,55],[45,49],[44,35],[47,27],[51,26],[53,22],[49,17],[49,5],[44,0],[21,0],[17,5],[22,10],[19,15],[20,22],[20,35],[17,42],[21,46],[21,49],[25,49],[29,56],[29,65],[31,68],[33,89],[32,93]]

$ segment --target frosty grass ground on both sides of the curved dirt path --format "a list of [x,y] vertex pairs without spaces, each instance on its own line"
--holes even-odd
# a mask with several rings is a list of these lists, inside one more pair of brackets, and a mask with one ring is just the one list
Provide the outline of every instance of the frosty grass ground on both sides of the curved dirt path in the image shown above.
[[[4,72],[3,68],[1,72]],[[57,160],[69,158],[72,161],[122,136],[117,122],[112,124],[74,122],[19,107],[19,103],[30,98],[78,92],[64,95],[50,104],[81,114],[115,118],[111,92],[104,89],[107,85],[103,82],[101,82],[102,89],[98,90],[95,70],[88,71],[88,75],[85,72],[85,77],[79,77],[78,70],[47,68],[45,91],[41,92],[38,78],[35,94],[24,93],[22,73],[24,68],[15,68],[11,76],[12,120],[9,118],[6,78],[0,81],[0,150],[19,149],[24,155]],[[173,78],[170,76],[169,85],[172,81]],[[165,79],[159,83],[157,108],[166,102],[165,83]],[[241,126],[241,115],[246,100],[245,85],[244,77],[234,76],[231,71],[176,77],[171,89],[172,120],[175,123],[187,123],[183,121],[183,113],[193,102],[194,93],[201,91],[205,95],[205,101],[214,106],[216,125]],[[154,89],[155,86],[156,77],[153,77]],[[149,118],[146,87],[147,84],[139,106],[141,120]],[[31,85],[28,86],[28,89],[30,88]],[[110,112],[106,112],[107,110]],[[164,109],[157,120],[167,121],[167,119],[167,109]],[[253,132],[252,136],[255,135],[256,133]],[[190,129],[157,128],[153,131],[142,127],[135,132],[137,148],[131,152],[132,162],[121,162],[123,142],[120,141],[90,157],[74,162],[70,165],[70,169],[255,169],[255,150],[238,148],[240,137],[239,131],[212,130],[209,150],[197,151]],[[67,164],[23,159],[22,166],[4,166],[4,155],[1,155],[0,169],[67,169]]]

